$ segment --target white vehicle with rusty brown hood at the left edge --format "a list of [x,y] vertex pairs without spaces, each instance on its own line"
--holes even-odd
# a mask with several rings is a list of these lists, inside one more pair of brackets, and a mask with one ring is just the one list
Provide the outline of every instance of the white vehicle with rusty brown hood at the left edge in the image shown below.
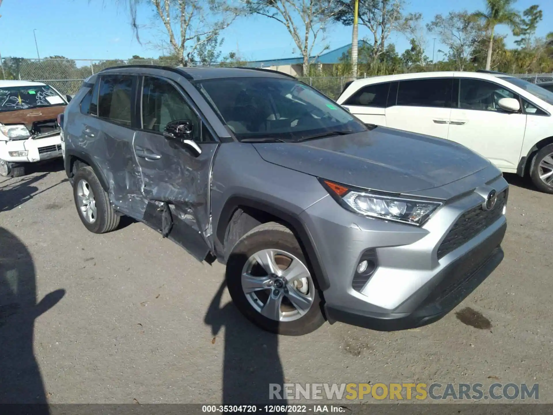
[[58,115],[70,97],[42,82],[0,81],[0,175],[19,177],[29,163],[61,157]]

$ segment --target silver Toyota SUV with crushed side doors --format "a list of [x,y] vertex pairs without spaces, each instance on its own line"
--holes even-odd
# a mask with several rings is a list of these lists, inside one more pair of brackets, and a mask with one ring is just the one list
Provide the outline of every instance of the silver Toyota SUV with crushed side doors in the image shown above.
[[226,264],[236,307],[274,333],[429,324],[503,259],[508,184],[488,160],[280,72],[110,68],[61,124],[88,230],[128,215]]

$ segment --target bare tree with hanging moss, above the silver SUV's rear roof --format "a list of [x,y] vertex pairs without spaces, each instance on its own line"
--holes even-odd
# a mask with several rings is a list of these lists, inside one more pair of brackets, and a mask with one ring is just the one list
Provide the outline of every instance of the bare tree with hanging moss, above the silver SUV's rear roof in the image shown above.
[[242,12],[233,0],[117,1],[128,7],[138,42],[139,31],[144,28],[141,29],[138,24],[138,6],[152,6],[154,21],[161,23],[169,38],[170,55],[175,56],[182,65],[190,64],[198,48],[213,43],[221,30],[226,29]]

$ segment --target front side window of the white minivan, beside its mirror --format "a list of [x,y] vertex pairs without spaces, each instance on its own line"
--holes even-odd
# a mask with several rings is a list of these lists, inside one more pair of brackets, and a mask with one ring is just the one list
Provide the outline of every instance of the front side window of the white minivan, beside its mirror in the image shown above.
[[463,110],[499,111],[501,98],[515,98],[518,95],[512,91],[481,79],[461,79],[458,107]]

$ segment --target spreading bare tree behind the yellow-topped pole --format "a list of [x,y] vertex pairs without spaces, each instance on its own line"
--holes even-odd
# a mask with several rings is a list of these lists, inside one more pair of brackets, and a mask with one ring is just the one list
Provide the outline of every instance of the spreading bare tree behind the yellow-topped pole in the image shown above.
[[[353,24],[354,0],[334,0],[334,19],[346,26]],[[359,24],[373,35],[372,61],[384,53],[386,42],[394,32],[407,34],[421,19],[419,13],[403,14],[404,0],[359,0]]]

